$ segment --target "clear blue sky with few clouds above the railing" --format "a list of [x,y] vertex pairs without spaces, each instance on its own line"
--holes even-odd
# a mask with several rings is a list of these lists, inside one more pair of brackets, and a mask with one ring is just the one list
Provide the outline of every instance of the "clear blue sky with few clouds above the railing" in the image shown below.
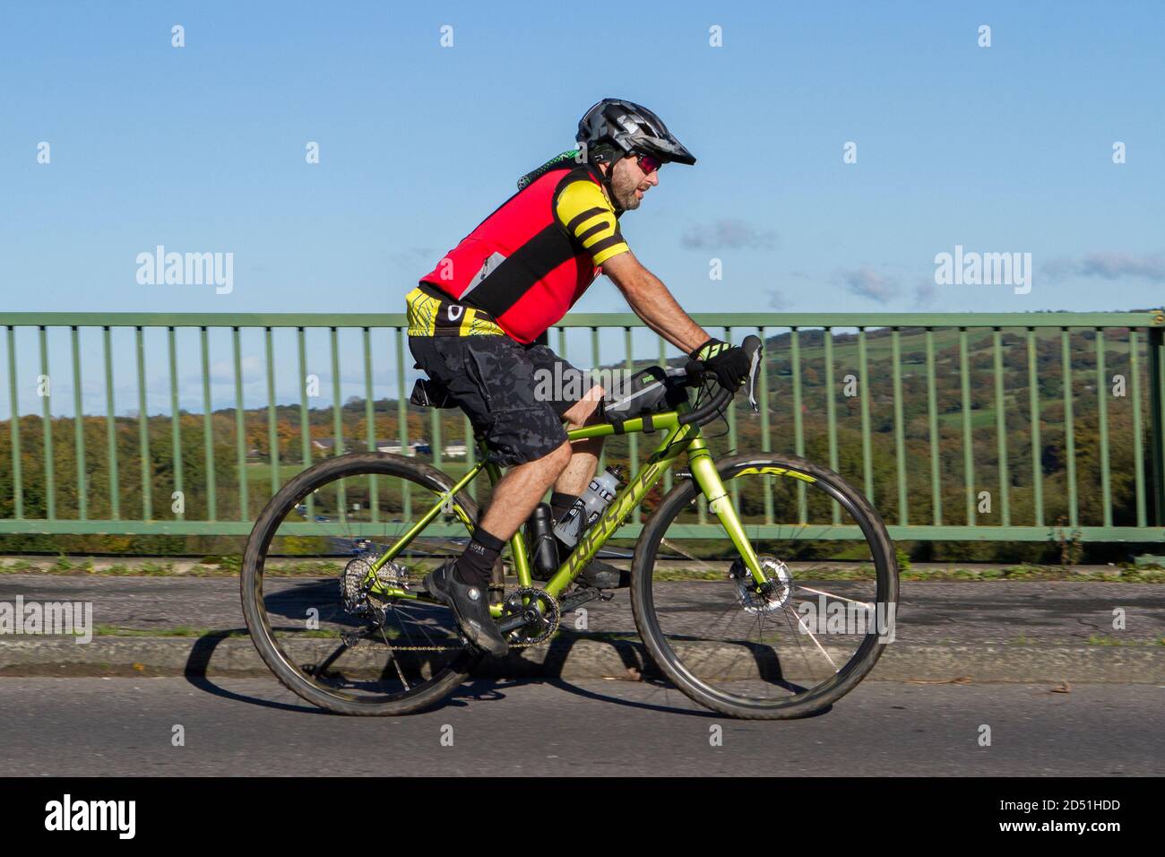
[[[605,96],[699,159],[623,218],[691,311],[1165,303],[1160,3],[588,8],[5,2],[0,311],[400,311]],[[156,245],[232,252],[232,293],[139,285]],[[934,286],[955,245],[1031,293]]]

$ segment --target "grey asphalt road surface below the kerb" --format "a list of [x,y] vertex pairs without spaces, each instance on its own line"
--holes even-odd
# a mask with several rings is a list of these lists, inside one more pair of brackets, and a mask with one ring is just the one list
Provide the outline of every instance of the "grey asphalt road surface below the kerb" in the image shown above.
[[267,679],[0,679],[0,773],[1162,775],[1163,694],[867,682],[820,716],[755,723],[645,682],[482,680],[426,714],[348,718]]

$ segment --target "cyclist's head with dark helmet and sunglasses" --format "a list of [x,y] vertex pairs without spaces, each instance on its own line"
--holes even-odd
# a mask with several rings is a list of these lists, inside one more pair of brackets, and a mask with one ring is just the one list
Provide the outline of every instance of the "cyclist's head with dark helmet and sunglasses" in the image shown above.
[[655,113],[634,101],[605,98],[579,120],[578,140],[586,160],[602,170],[615,205],[640,206],[643,194],[659,183],[665,163],[696,163],[696,157]]

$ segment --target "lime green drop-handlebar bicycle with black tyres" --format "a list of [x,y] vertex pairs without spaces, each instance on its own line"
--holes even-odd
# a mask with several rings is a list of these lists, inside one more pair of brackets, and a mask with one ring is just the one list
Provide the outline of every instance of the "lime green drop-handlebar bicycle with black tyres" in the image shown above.
[[[755,408],[761,340],[742,346],[753,358]],[[686,386],[705,380],[697,373]],[[616,531],[686,456],[687,471],[675,475],[630,559],[634,628],[651,663],[701,705],[751,719],[820,711],[870,672],[892,639],[898,598],[881,518],[845,479],[802,458],[714,461],[700,427],[732,398],[718,389],[647,426],[644,417],[622,422],[621,433],[661,430],[663,438],[549,581],[532,578],[524,534],[514,535],[516,585],[507,588],[495,568],[490,592],[511,647],[574,633],[560,630],[565,613],[612,597],[574,578],[626,541]],[[615,433],[599,423],[569,437]],[[465,681],[482,654],[421,581],[461,553],[478,521],[467,486],[482,471],[492,484],[501,478],[485,442],[479,448],[456,479],[404,456],[337,456],[271,498],[247,541],[242,607],[259,654],[287,688],[330,711],[393,716],[430,708]],[[297,568],[305,557],[317,564]],[[331,557],[333,569],[343,562],[339,581],[319,576],[318,557]],[[634,637],[630,627],[595,639],[623,637]]]

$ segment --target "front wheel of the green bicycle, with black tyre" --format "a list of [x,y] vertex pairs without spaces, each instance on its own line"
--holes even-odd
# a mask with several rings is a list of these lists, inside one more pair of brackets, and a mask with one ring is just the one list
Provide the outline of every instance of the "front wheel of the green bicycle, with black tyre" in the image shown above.
[[[898,568],[877,512],[836,473],[792,456],[716,464],[761,560],[758,588],[722,531],[677,485],[635,548],[631,610],[676,687],[746,719],[816,714],[849,693],[894,639]],[[697,535],[697,538],[690,538]]]

